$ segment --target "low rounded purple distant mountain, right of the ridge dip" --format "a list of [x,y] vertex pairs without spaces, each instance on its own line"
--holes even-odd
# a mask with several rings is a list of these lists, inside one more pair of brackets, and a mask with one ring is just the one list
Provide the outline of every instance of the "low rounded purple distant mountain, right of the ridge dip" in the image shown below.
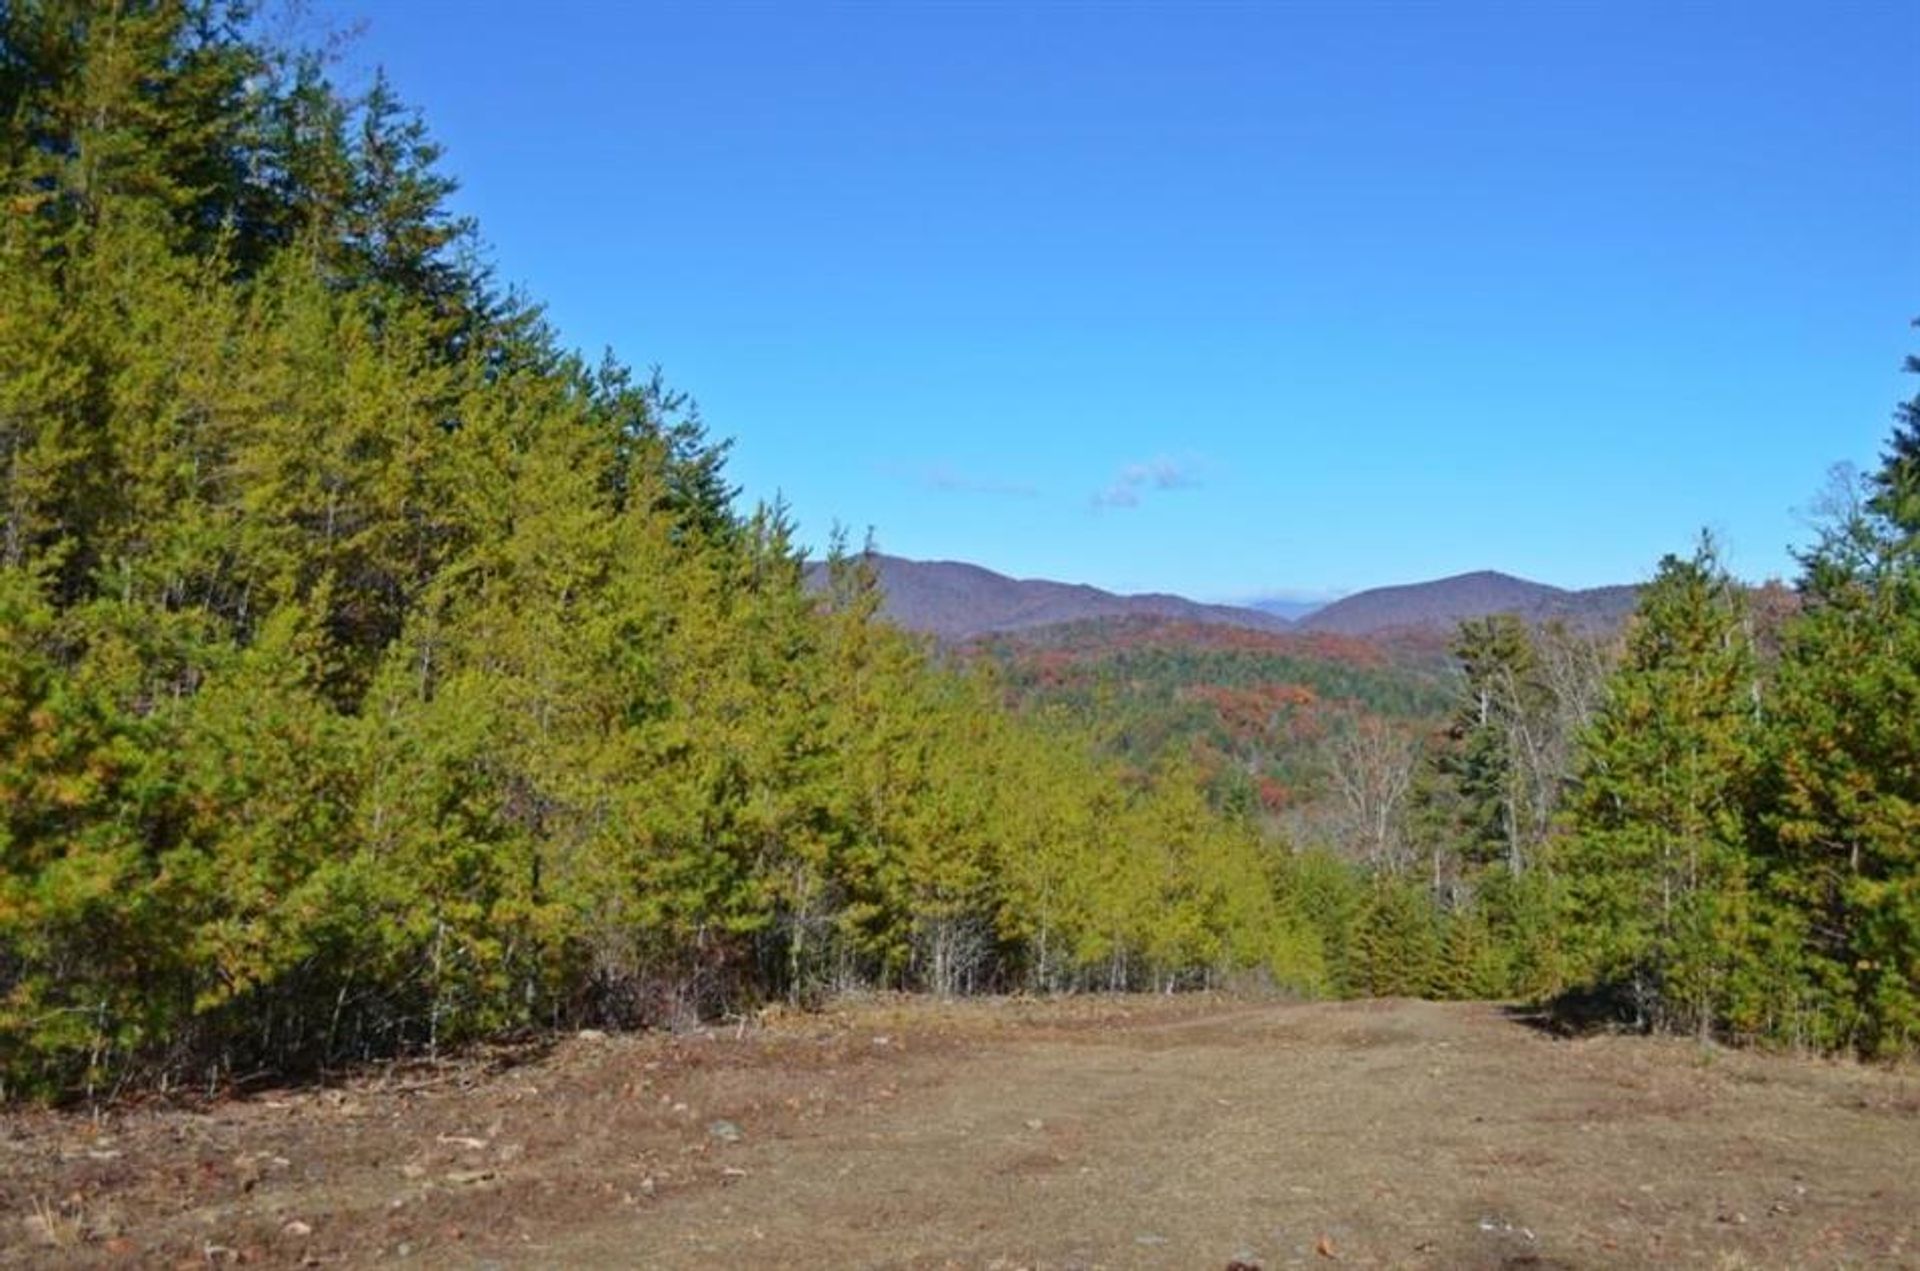
[[1634,611],[1638,588],[1567,591],[1542,582],[1480,570],[1404,588],[1375,588],[1319,609],[1306,632],[1365,636],[1388,630],[1453,628],[1465,618],[1511,612],[1528,622],[1559,618],[1580,630],[1609,630]]

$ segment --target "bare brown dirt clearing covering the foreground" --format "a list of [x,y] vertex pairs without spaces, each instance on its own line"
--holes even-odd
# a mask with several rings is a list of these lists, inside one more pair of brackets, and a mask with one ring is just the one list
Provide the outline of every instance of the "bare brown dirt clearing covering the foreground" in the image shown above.
[[1920,1073],[1492,1004],[868,1000],[0,1117],[0,1263],[1920,1267]]

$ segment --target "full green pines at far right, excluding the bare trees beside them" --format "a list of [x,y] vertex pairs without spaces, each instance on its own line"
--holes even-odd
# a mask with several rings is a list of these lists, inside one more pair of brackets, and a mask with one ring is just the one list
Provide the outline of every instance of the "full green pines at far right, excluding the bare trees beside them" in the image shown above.
[[1903,403],[1882,468],[1839,490],[1768,662],[1711,551],[1644,597],[1567,868],[1586,977],[1653,1025],[1920,1044],[1916,420]]

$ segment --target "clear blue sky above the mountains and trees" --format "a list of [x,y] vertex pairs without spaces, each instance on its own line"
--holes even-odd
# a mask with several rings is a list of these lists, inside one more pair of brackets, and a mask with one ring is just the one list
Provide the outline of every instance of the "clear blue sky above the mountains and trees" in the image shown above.
[[1920,6],[346,4],[803,538],[1204,599],[1791,568],[1920,384]]

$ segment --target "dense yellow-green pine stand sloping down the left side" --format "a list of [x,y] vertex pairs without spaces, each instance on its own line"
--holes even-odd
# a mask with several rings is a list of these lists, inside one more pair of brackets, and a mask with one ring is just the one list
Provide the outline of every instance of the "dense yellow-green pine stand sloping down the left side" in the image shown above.
[[240,6],[0,10],[0,1083],[843,983],[1311,987],[1284,872],[801,586]]

